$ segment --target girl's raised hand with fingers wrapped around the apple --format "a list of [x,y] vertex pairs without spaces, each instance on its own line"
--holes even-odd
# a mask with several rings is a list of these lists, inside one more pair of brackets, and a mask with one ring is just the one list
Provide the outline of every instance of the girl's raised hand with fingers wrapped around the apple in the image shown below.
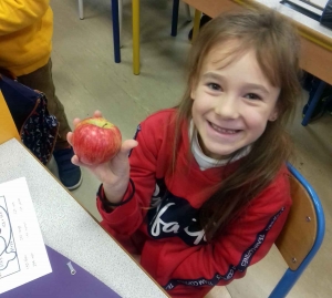
[[[102,113],[95,111],[93,116],[101,117]],[[75,119],[73,121],[74,126],[79,122],[80,119]],[[73,133],[68,133],[66,138],[70,144],[72,144],[72,137]],[[123,198],[129,182],[128,154],[137,144],[135,140],[124,141],[120,152],[111,161],[103,164],[86,165],[80,161],[77,155],[72,157],[72,163],[89,168],[103,183],[107,199],[112,203],[118,203]]]

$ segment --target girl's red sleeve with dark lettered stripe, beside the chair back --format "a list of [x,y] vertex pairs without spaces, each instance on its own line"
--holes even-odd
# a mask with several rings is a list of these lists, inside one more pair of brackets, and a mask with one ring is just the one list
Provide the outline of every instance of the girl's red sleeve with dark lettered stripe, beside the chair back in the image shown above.
[[[179,285],[225,286],[243,277],[249,265],[268,254],[286,223],[291,206],[287,176],[279,182],[283,185],[276,183],[263,191],[215,243],[191,247],[181,240],[172,246],[155,243],[142,255],[143,267],[155,273],[170,295]],[[152,258],[156,260],[149,263]]]

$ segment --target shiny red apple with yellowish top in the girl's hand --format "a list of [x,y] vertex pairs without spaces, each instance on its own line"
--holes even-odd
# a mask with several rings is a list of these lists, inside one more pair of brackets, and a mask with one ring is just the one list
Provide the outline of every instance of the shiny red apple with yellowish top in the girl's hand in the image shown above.
[[81,121],[73,132],[73,148],[80,161],[97,165],[112,160],[121,148],[120,130],[103,117]]

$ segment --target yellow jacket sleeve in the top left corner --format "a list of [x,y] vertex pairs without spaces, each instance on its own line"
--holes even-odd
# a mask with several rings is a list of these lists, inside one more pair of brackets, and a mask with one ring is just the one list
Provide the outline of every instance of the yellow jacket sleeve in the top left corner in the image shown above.
[[41,19],[50,7],[49,0],[1,0],[0,35],[17,32]]

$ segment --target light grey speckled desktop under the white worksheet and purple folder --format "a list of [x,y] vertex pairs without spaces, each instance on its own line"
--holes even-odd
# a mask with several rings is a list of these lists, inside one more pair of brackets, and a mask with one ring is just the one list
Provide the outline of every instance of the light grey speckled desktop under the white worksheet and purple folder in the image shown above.
[[0,183],[27,178],[46,245],[122,297],[167,297],[19,141],[0,145]]

